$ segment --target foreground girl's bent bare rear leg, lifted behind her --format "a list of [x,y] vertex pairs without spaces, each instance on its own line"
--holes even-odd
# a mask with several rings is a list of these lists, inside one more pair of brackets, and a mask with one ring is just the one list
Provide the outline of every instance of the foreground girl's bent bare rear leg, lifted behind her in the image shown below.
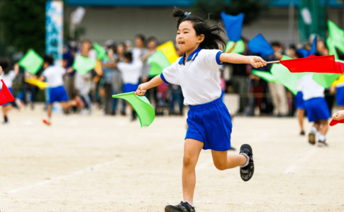
[[248,161],[245,155],[228,155],[228,151],[211,151],[213,165],[218,170],[228,170],[239,165],[245,165]]

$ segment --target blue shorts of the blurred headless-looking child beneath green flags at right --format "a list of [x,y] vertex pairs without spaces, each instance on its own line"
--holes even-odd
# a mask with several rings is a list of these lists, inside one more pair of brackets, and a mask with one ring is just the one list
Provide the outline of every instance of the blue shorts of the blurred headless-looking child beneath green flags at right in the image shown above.
[[327,120],[331,117],[325,98],[312,98],[304,101],[309,122]]

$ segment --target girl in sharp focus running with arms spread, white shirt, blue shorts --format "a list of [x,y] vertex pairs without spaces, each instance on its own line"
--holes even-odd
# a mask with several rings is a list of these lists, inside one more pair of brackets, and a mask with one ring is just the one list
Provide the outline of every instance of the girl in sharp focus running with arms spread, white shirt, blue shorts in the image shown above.
[[253,177],[253,151],[244,144],[239,155],[228,155],[231,148],[231,115],[221,101],[221,86],[218,81],[220,65],[252,64],[255,68],[266,65],[260,57],[223,53],[218,49],[226,46],[218,26],[209,27],[204,20],[190,13],[174,8],[172,13],[177,21],[176,41],[183,57],[177,59],[162,74],[151,81],[140,84],[136,95],[144,95],[146,90],[172,83],[182,87],[184,105],[189,105],[187,135],[184,143],[182,186],[184,201],[177,206],[166,206],[165,211],[195,211],[194,188],[195,167],[201,149],[211,149],[213,163],[218,170],[240,166],[240,176],[244,181]]

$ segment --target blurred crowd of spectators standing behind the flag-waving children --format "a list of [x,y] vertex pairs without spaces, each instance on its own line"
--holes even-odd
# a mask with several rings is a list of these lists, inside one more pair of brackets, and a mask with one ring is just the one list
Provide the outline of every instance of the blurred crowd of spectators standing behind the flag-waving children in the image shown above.
[[[243,37],[245,43],[244,55],[255,55],[248,49],[248,40]],[[126,115],[126,102],[112,98],[112,95],[123,93],[123,79],[121,71],[118,71],[112,64],[124,60],[125,52],[132,52],[133,61],[143,61],[143,67],[140,69],[139,83],[149,81],[153,76],[149,75],[150,65],[147,64],[148,57],[151,57],[156,52],[156,47],[159,45],[157,38],[148,37],[145,35],[135,35],[133,42],[125,40],[123,42],[114,42],[107,40],[103,47],[109,57],[109,61],[102,61],[102,71],[89,71],[81,78],[76,78],[76,71],[73,71],[72,64],[77,55],[96,59],[96,52],[94,51],[91,40],[70,40],[64,46],[63,52],[63,66],[67,71],[65,75],[65,88],[70,99],[79,96],[84,101],[84,108],[72,107],[72,109],[64,111],[65,113],[81,113],[91,114],[92,107],[98,107],[104,110],[107,115]],[[179,57],[182,57],[183,52],[180,52],[177,45],[174,45]],[[285,46],[278,41],[271,42],[274,49],[274,54],[265,57],[266,61],[276,61],[282,58],[285,54],[293,59],[301,58],[302,55],[296,50],[311,49],[311,44],[303,46],[289,45]],[[323,40],[317,41],[318,56],[328,55],[328,48]],[[19,58],[20,59],[20,58]],[[7,63],[9,65],[6,66]],[[2,58],[1,64],[6,71],[9,71],[14,66],[16,61],[9,61],[9,59]],[[13,64],[13,66],[11,66]],[[267,82],[251,74],[252,66],[250,64],[226,64],[220,70],[221,74],[221,88],[224,93],[236,94],[240,96],[240,105],[237,114],[246,116],[267,115],[276,117],[294,116],[296,111],[294,95],[285,88],[282,84]],[[259,71],[269,72],[271,65],[258,69]],[[43,70],[37,74],[40,76]],[[30,105],[34,108],[35,102],[42,102],[44,98],[44,90],[39,90],[35,86],[31,86],[23,81],[24,76],[30,78],[25,70],[21,70],[16,80],[13,82],[13,90],[16,98],[23,102],[23,105]],[[78,81],[83,81],[80,83]],[[155,108],[156,115],[183,115],[183,95],[180,86],[167,85],[163,83],[157,88],[148,90],[146,93],[152,106]],[[226,97],[225,97],[226,98]],[[326,100],[330,109],[334,104],[334,95],[326,90]]]

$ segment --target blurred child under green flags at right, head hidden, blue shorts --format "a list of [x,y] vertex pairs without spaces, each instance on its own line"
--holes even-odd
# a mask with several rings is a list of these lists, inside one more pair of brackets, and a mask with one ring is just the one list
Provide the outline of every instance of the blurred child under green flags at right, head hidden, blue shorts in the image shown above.
[[314,145],[317,137],[318,146],[327,146],[326,133],[328,131],[328,119],[331,117],[331,114],[323,94],[325,88],[316,83],[312,78],[313,73],[300,78],[300,88],[304,94],[304,106],[307,111],[307,117],[309,122],[314,122],[309,133],[309,143]]

